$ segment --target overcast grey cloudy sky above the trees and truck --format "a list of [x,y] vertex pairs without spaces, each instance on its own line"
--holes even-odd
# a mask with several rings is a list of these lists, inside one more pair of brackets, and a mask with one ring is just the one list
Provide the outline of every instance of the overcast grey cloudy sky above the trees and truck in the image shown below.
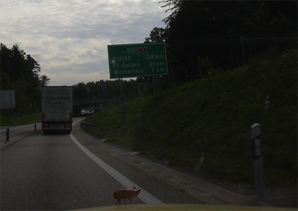
[[143,43],[165,27],[159,0],[0,0],[0,42],[17,44],[49,85],[109,79],[107,45]]

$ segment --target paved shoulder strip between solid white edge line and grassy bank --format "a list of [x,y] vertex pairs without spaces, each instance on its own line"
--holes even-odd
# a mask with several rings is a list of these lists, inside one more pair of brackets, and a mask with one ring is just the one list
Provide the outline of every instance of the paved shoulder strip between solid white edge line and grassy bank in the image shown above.
[[[258,202],[252,198],[234,193],[222,187],[154,163],[139,156],[137,152],[126,151],[105,143],[104,141],[86,134],[80,127],[77,127],[77,130],[79,136],[83,137],[85,141],[96,144],[96,147],[99,147],[101,150],[108,152],[114,157],[118,157],[149,175],[157,177],[161,181],[181,190],[181,192],[185,192],[190,196],[203,201],[205,204],[270,207],[270,205],[266,203]],[[74,136],[76,135],[77,134],[74,133]]]

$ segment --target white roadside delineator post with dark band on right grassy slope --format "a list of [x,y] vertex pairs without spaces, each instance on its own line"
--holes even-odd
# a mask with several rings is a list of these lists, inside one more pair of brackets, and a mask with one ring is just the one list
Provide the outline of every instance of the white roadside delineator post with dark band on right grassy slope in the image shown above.
[[255,190],[257,197],[265,197],[265,180],[264,180],[264,167],[262,157],[261,145],[261,126],[254,124],[250,127],[251,139],[253,142],[253,166],[254,166],[254,179]]

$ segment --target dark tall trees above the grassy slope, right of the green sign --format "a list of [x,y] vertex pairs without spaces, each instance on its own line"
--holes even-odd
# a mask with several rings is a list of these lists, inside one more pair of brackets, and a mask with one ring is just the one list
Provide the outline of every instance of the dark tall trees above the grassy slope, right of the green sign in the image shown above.
[[[163,20],[166,27],[153,28],[145,43],[166,44],[177,82],[247,64],[272,49],[297,48],[297,1],[160,2],[171,14]],[[163,78],[170,81],[171,75]]]

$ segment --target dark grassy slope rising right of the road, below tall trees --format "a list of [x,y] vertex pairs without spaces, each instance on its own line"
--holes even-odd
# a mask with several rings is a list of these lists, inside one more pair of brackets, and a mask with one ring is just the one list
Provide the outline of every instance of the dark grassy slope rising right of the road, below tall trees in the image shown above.
[[125,124],[119,106],[88,122],[97,137],[234,181],[252,181],[259,123],[266,181],[297,183],[297,50],[130,101]]

